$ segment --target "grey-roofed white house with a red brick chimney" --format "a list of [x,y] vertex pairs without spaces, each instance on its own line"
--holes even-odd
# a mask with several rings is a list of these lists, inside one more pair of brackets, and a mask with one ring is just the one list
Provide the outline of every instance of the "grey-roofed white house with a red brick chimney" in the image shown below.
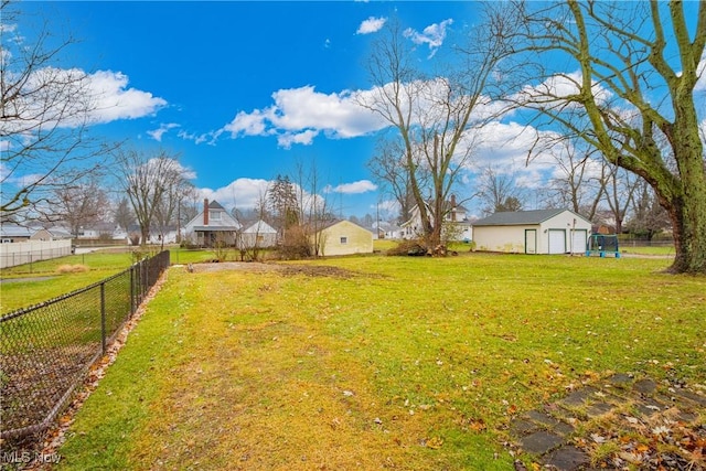
[[217,201],[203,201],[203,210],[184,227],[192,244],[213,247],[216,243],[235,245],[240,224]]

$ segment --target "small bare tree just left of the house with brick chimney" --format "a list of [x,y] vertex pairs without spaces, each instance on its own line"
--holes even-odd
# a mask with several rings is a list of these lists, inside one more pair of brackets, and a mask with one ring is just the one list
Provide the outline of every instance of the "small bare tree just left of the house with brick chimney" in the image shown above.
[[[183,184],[184,169],[175,156],[164,150],[149,154],[120,149],[114,156],[119,169],[119,183],[128,195],[140,226],[140,244],[145,245],[160,205],[168,204],[173,189]],[[173,205],[169,203],[169,206]]]

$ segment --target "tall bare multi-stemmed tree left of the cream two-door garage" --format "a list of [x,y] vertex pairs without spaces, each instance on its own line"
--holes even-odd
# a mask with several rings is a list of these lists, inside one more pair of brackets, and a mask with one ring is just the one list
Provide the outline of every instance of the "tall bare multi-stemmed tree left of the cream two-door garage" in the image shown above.
[[[441,245],[447,200],[473,152],[473,128],[490,119],[486,95],[498,62],[507,52],[502,20],[472,31],[469,46],[457,50],[460,69],[425,76],[415,65],[398,23],[373,49],[368,71],[374,89],[361,94],[361,106],[372,110],[399,132],[403,168],[419,212],[428,250]],[[428,175],[428,188],[424,186]],[[426,192],[429,192],[427,199]]]

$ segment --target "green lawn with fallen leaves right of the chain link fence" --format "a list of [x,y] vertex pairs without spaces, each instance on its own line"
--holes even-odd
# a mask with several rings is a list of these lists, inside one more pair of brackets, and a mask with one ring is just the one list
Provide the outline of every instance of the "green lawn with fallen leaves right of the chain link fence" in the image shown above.
[[302,265],[332,268],[172,268],[58,469],[507,470],[512,417],[571,384],[706,381],[706,279],[664,260]]

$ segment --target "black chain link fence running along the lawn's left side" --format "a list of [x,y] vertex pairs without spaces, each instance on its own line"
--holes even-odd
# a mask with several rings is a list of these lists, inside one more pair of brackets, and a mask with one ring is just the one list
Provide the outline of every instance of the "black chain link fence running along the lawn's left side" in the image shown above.
[[169,251],[0,318],[0,437],[47,429],[169,267]]

